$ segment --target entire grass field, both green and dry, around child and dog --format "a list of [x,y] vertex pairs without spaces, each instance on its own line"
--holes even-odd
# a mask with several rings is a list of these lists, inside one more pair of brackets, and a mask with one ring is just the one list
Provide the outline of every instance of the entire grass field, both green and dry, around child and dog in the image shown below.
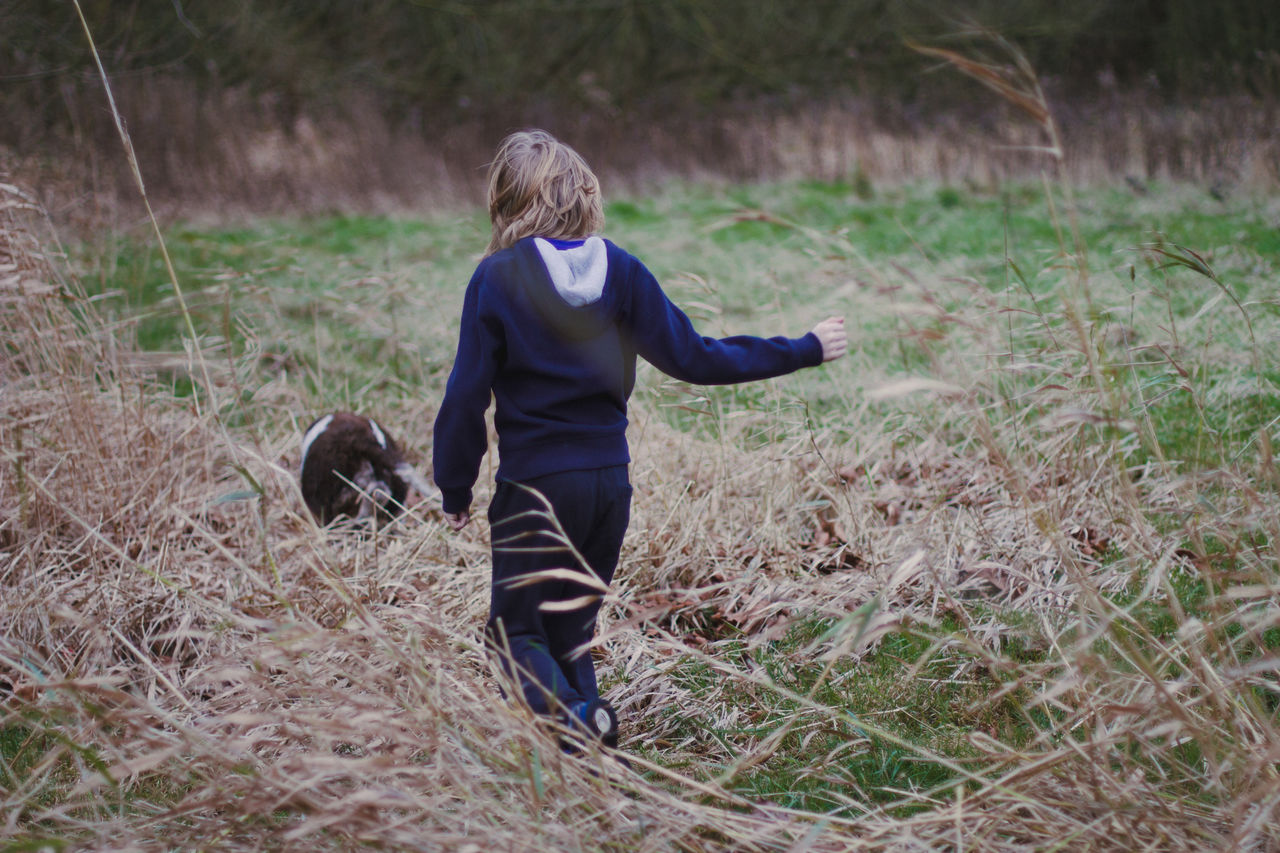
[[146,234],[47,260],[10,222],[0,839],[1280,844],[1280,201],[673,184],[607,216],[705,334],[852,343],[643,370],[598,657],[631,771],[499,699],[483,523],[428,496],[339,535],[294,485],[334,409],[429,465],[483,213],[175,224],[180,297]]

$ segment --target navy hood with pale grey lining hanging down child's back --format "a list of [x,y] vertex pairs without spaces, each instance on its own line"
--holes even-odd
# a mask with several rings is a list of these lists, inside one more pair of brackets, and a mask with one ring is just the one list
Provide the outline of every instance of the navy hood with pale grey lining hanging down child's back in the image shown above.
[[556,332],[582,341],[600,334],[613,321],[614,310],[605,293],[608,246],[600,237],[581,243],[534,237],[525,248],[530,264],[545,273],[545,279],[534,277],[529,282],[530,297]]

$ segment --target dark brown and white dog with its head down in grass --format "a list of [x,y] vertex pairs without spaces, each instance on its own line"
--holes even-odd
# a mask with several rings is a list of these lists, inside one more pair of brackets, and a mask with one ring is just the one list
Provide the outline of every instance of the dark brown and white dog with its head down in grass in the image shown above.
[[340,517],[390,521],[411,487],[424,496],[430,489],[371,418],[325,415],[302,437],[302,500],[320,524]]

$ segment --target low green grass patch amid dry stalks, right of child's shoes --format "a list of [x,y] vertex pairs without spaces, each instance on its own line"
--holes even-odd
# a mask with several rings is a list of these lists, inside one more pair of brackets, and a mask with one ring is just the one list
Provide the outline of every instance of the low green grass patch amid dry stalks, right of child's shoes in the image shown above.
[[[748,725],[689,720],[677,729],[677,738],[691,739],[710,754],[731,756],[727,763],[699,760],[691,768],[713,779],[730,775],[737,758],[792,725],[768,760],[731,775],[732,790],[845,817],[876,806],[908,815],[922,807],[904,804],[904,793],[932,792],[946,799],[972,783],[969,774],[982,776],[982,754],[969,740],[970,733],[1018,748],[1036,735],[1037,719],[1043,721],[1043,712],[1023,707],[1029,695],[1025,688],[996,698],[1011,675],[960,651],[954,640],[963,630],[952,620],[933,629],[892,633],[868,654],[828,669],[817,660],[813,642],[832,626],[829,621],[800,624],[751,656],[750,665],[763,670],[768,686],[744,681],[723,697],[735,707],[750,708]],[[1033,663],[1042,657],[1016,646],[1007,651],[1010,660]],[[741,648],[732,643],[717,648],[716,657],[730,666],[746,665]],[[695,693],[723,689],[723,675],[705,662],[690,660],[675,672]],[[860,799],[851,803],[850,792]]]

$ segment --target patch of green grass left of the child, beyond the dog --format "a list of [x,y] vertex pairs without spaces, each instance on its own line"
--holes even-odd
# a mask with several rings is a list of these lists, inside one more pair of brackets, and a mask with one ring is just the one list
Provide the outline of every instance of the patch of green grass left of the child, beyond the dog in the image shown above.
[[[461,304],[481,227],[468,215],[337,216],[183,225],[166,242],[193,325],[218,360],[250,361],[260,379],[287,371],[328,405],[353,407],[361,394],[406,393],[447,370],[452,350],[417,332],[422,320],[443,328],[439,298],[451,314]],[[180,306],[145,234],[122,237],[105,254],[86,250],[78,263],[122,336],[143,350],[183,350]],[[189,388],[183,377],[174,382]]]

